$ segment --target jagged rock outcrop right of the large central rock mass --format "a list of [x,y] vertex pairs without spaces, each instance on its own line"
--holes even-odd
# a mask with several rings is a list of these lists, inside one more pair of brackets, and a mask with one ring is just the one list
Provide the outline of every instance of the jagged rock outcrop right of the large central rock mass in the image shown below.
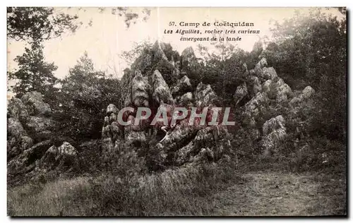
[[[255,138],[261,139],[261,147],[265,156],[273,155],[280,148],[281,143],[286,138],[287,132],[285,128],[284,114],[279,114],[283,107],[287,107],[291,113],[296,114],[297,107],[304,104],[308,98],[312,97],[315,92],[310,86],[306,87],[299,95],[294,97],[294,92],[285,83],[285,81],[277,76],[273,67],[266,67],[266,59],[256,64],[256,67],[249,71],[247,83],[253,86],[252,93],[256,94],[244,106],[244,115],[249,118],[249,134],[256,135]],[[239,88],[239,95],[240,88]],[[237,103],[237,101],[235,101]],[[263,116],[275,114],[277,116],[259,123],[263,120]],[[263,125],[262,129],[257,126]],[[262,133],[261,131],[262,130]]]

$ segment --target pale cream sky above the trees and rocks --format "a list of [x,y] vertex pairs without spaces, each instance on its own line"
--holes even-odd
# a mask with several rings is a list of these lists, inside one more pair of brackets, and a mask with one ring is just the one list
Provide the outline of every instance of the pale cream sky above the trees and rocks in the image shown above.
[[[246,51],[251,51],[253,44],[261,37],[271,37],[270,20],[281,22],[285,18],[294,15],[294,11],[309,11],[309,8],[149,8],[150,16],[147,20],[138,18],[136,24],[131,24],[129,28],[124,23],[124,17],[111,13],[111,8],[105,8],[100,12],[98,8],[56,8],[59,12],[77,14],[83,25],[75,32],[66,32],[59,38],[44,42],[44,56],[47,62],[54,62],[58,66],[54,75],[64,78],[68,74],[68,69],[72,68],[78,58],[83,53],[88,52],[95,68],[107,73],[114,73],[116,78],[121,78],[122,71],[128,67],[127,62],[121,58],[121,53],[133,48],[134,43],[148,40],[155,42],[160,40],[172,44],[173,49],[181,53],[186,47],[196,49],[198,42],[181,42],[179,34],[164,34],[164,30],[169,30],[169,22],[179,25],[184,23],[214,23],[218,21],[229,21],[231,23],[247,22],[254,23],[251,28],[260,30],[261,33],[250,35],[239,35],[242,37],[236,43],[238,47]],[[129,11],[143,15],[143,8],[129,8]],[[333,14],[340,15],[335,9]],[[88,25],[92,21],[92,25]],[[192,27],[175,27],[171,30],[182,28],[189,30]],[[193,28],[195,29],[195,28]],[[201,27],[201,32],[214,28]],[[237,29],[237,28],[235,28]],[[247,28],[246,28],[247,29]],[[184,35],[193,37],[195,34]],[[212,35],[200,35],[212,36]],[[237,35],[235,35],[237,36]],[[207,42],[203,42],[206,47],[212,47]],[[25,42],[8,40],[8,71],[16,69],[16,62],[13,59],[23,54]],[[9,83],[11,85],[11,83]]]

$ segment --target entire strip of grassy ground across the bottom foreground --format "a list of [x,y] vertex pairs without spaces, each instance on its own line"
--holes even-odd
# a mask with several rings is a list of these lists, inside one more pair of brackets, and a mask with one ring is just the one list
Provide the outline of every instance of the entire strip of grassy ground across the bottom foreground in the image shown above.
[[132,178],[77,177],[8,190],[11,216],[346,215],[340,175],[183,168]]

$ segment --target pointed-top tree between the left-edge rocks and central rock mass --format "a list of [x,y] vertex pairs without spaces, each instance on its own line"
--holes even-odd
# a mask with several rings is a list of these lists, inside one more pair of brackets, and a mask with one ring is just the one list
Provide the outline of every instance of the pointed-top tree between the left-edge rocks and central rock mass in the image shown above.
[[61,81],[61,133],[81,141],[100,138],[105,109],[120,99],[119,80],[95,71],[87,52]]

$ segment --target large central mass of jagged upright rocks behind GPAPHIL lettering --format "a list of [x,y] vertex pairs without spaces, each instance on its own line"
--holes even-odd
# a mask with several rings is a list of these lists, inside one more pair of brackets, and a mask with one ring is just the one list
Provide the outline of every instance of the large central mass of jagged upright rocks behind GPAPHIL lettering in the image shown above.
[[[210,85],[198,83],[196,90],[193,90],[185,73],[181,77],[177,76],[177,73],[183,72],[179,71],[174,56],[170,56],[173,61],[168,61],[169,57],[164,55],[164,47],[164,44],[158,42],[153,45],[150,52],[153,57],[148,62],[150,70],[146,70],[145,65],[139,64],[140,59],[137,59],[131,67],[130,77],[123,77],[124,80],[121,81],[127,92],[122,103],[124,107],[150,107],[153,115],[165,109],[168,119],[173,115],[175,106],[209,107],[208,112],[211,112],[211,108],[218,103],[213,89]],[[158,61],[155,61],[156,58]],[[180,57],[182,67],[188,68],[196,63],[193,49],[191,47],[185,49]],[[174,66],[173,77],[170,76],[171,73],[168,74],[170,65]],[[165,71],[167,73],[164,73]],[[177,78],[177,81],[172,83],[167,81],[172,78]],[[146,146],[149,138],[159,142],[155,145],[155,149],[159,151],[156,159],[164,166],[193,162],[202,154],[208,155],[208,159],[217,160],[222,157],[223,150],[229,150],[229,140],[225,140],[228,134],[225,127],[203,127],[199,125],[197,119],[196,126],[189,126],[189,119],[180,121],[175,126],[169,124],[165,126],[162,122],[151,126],[150,120],[145,120],[142,126],[120,126],[115,118],[118,113],[119,109],[114,104],[109,104],[102,128],[102,151],[105,157],[118,152],[119,145],[131,146],[131,149]],[[125,116],[126,120],[134,122],[136,111],[126,112]],[[200,154],[201,151],[203,152]]]

